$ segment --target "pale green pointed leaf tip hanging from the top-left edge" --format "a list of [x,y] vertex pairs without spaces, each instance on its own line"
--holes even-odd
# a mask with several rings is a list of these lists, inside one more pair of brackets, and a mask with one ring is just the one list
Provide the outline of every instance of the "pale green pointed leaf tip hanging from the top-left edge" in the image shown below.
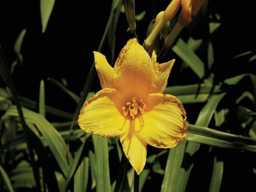
[[50,19],[55,0],[40,0],[40,12],[42,22],[42,33],[45,32]]

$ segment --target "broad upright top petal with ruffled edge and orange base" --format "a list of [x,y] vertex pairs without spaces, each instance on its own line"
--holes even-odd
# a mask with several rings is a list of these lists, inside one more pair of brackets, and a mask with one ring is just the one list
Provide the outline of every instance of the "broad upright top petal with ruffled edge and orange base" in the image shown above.
[[156,90],[157,65],[154,65],[148,53],[130,39],[121,50],[114,67],[114,88],[120,91],[127,100],[133,97],[140,100]]

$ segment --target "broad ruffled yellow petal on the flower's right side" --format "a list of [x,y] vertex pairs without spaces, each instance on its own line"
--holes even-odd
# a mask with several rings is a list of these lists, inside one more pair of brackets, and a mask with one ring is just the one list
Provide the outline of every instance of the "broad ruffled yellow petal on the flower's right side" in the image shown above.
[[145,100],[147,112],[135,119],[135,130],[149,145],[173,148],[187,136],[186,112],[173,95],[153,93]]

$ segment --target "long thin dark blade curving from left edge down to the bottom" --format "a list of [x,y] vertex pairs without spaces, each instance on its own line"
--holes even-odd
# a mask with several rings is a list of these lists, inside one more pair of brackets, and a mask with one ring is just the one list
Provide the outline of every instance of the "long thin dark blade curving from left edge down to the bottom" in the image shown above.
[[20,105],[20,101],[18,99],[18,94],[14,85],[14,82],[12,80],[12,76],[10,73],[10,70],[8,68],[8,64],[7,61],[5,59],[4,56],[4,52],[2,50],[2,47],[0,45],[0,71],[2,72],[1,75],[3,75],[3,79],[6,80],[6,83],[10,86],[11,92],[12,92],[12,97],[13,100],[15,102],[15,105],[17,107],[17,111],[20,117],[20,122],[22,124],[22,128],[23,128],[23,132],[26,138],[26,143],[28,146],[28,151],[29,151],[29,157],[30,157],[30,161],[31,161],[31,165],[33,168],[33,173],[34,173],[34,178],[36,180],[36,189],[37,191],[41,191],[41,187],[40,187],[40,181],[39,181],[39,171],[38,168],[36,167],[36,161],[35,161],[35,157],[34,157],[34,153],[33,153],[33,148],[32,145],[30,143],[30,140],[28,138],[28,127],[26,125],[22,110],[21,110],[21,105]]

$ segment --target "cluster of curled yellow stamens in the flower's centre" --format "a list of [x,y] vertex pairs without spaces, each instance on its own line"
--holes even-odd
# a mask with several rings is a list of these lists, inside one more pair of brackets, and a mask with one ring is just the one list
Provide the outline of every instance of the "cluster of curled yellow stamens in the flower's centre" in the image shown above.
[[130,116],[132,117],[132,119],[134,119],[134,116],[138,114],[138,110],[141,114],[144,114],[147,111],[146,104],[143,102],[142,99],[140,99],[140,105],[136,103],[135,99],[133,100],[133,104],[131,102],[127,102],[126,105],[128,106],[127,108],[122,107],[122,110],[124,111],[124,116],[127,116],[128,112],[130,112]]

